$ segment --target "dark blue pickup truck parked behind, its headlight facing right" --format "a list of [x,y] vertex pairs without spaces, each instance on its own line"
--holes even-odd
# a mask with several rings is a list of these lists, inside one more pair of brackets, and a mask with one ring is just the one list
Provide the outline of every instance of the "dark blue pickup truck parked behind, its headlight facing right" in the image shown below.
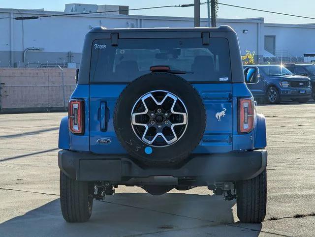
[[281,65],[244,66],[245,81],[255,100],[278,104],[282,100],[306,103],[311,99],[310,78],[295,75]]

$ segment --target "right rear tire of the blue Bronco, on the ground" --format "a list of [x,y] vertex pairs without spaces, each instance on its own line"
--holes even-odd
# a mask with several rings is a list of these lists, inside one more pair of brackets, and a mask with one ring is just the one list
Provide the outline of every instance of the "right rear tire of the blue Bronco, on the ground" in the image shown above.
[[261,223],[266,216],[267,175],[236,183],[237,217],[244,223]]

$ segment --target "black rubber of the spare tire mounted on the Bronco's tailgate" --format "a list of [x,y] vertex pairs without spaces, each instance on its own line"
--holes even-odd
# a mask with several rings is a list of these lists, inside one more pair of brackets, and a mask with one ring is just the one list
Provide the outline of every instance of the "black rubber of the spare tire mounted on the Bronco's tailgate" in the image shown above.
[[[165,90],[185,104],[188,114],[186,130],[175,143],[164,147],[150,146],[133,131],[130,117],[135,103],[150,91]],[[206,126],[206,110],[202,99],[183,78],[170,73],[143,75],[131,82],[120,94],[114,111],[114,128],[126,151],[146,166],[172,166],[185,160],[199,144]],[[146,149],[150,149],[148,154]]]

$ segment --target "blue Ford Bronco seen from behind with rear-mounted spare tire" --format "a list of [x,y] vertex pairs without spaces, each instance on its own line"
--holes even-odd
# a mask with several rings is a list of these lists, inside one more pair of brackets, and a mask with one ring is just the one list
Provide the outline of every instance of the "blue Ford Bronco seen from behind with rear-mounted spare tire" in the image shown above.
[[263,221],[265,118],[230,27],[95,27],[76,78],[59,131],[67,222],[87,221],[118,185],[152,195],[205,186],[237,199],[242,222]]

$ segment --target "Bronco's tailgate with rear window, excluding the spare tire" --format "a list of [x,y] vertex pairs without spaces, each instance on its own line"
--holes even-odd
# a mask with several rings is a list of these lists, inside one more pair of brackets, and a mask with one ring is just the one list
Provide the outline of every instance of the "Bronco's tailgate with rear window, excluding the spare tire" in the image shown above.
[[93,42],[90,150],[95,153],[126,153],[114,131],[116,101],[128,83],[150,73],[150,67],[156,65],[167,65],[180,72],[178,75],[189,81],[203,99],[207,125],[195,152],[231,150],[232,79],[227,39],[211,38],[209,32],[198,31],[189,34],[164,32],[164,36],[152,32],[137,35],[120,34],[115,44],[111,39]]

